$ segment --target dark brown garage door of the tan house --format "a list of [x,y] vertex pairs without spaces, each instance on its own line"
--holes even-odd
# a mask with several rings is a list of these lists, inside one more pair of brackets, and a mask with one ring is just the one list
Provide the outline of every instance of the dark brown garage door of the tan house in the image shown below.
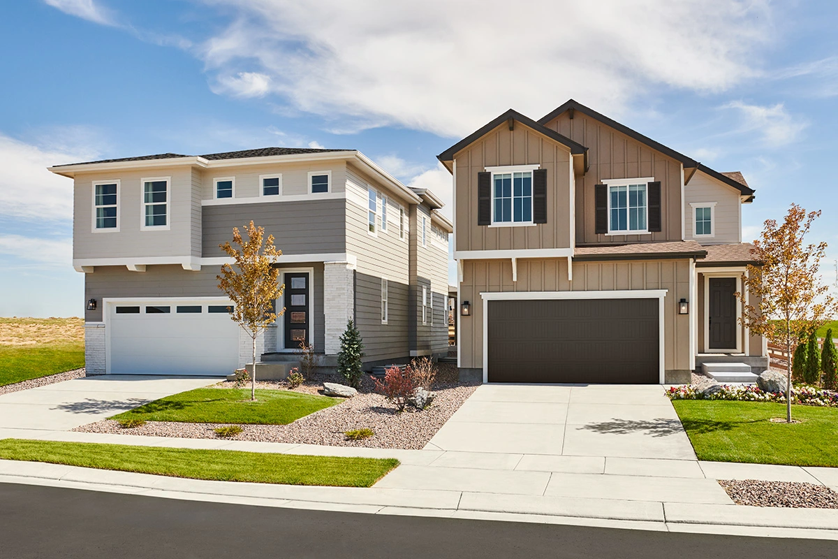
[[489,301],[489,382],[657,384],[658,299]]

